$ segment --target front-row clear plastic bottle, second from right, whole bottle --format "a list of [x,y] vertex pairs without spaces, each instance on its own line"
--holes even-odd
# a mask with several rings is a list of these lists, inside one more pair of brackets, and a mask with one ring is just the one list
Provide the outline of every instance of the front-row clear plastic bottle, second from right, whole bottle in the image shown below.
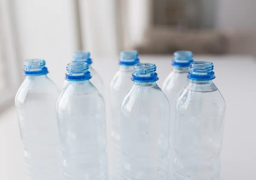
[[124,180],[169,180],[170,105],[155,71],[155,64],[135,64],[122,101]]

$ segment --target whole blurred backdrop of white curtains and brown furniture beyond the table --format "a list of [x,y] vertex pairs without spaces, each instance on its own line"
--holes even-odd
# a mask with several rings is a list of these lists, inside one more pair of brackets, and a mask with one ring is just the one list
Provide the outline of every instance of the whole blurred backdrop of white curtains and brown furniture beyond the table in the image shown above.
[[0,110],[13,103],[28,58],[44,58],[61,87],[77,49],[95,63],[117,61],[123,49],[256,55],[255,7],[255,0],[0,0]]

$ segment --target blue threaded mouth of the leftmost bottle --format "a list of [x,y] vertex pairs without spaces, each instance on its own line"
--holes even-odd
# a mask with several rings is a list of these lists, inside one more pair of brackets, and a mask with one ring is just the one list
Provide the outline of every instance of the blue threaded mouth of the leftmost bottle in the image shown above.
[[44,75],[49,73],[47,67],[45,67],[44,59],[28,59],[24,63],[24,75]]

